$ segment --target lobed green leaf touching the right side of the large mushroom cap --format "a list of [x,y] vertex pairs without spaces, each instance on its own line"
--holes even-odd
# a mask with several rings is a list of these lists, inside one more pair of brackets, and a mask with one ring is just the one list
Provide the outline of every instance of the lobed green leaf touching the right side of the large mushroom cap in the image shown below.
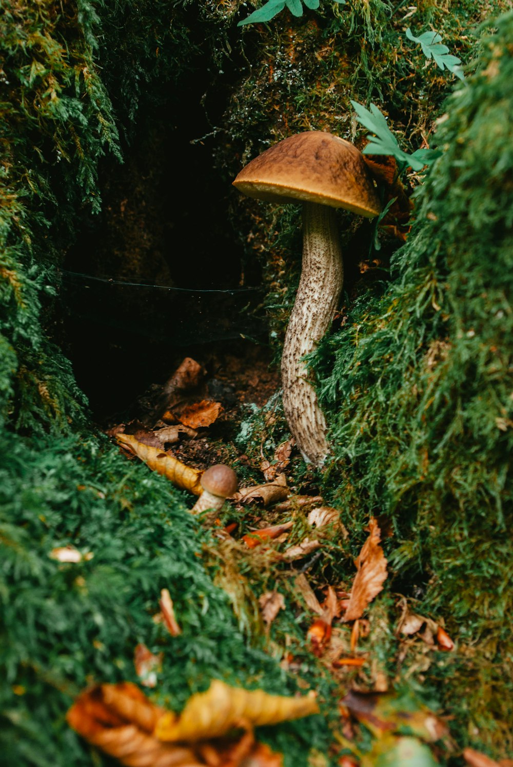
[[385,154],[396,158],[400,172],[408,166],[412,170],[423,170],[426,165],[431,165],[436,158],[441,155],[438,150],[418,149],[412,154],[403,152],[396,137],[388,127],[386,117],[380,112],[376,104],[370,104],[370,110],[351,100],[354,110],[357,113],[358,122],[372,131],[374,135],[369,135],[369,143],[363,150],[363,154]]

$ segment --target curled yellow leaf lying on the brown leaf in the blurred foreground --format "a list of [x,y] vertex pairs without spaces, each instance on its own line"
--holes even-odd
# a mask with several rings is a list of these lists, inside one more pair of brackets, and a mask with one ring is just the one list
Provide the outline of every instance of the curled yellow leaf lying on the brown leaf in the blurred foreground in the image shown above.
[[234,727],[278,724],[318,713],[314,697],[288,698],[263,690],[242,690],[214,680],[206,693],[189,698],[180,716],[165,713],[155,735],[166,742],[196,742],[224,736]]

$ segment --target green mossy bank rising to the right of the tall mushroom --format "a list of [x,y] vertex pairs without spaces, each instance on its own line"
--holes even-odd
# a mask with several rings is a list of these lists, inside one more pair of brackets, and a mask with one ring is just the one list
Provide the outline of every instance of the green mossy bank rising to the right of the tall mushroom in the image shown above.
[[512,31],[509,14],[483,44],[478,73],[446,102],[444,153],[416,195],[393,285],[360,298],[315,365],[336,456],[325,484],[347,521],[393,518],[397,588],[421,584],[423,608],[443,611],[461,643],[458,662],[439,669],[449,711],[465,738],[503,755],[513,682]]

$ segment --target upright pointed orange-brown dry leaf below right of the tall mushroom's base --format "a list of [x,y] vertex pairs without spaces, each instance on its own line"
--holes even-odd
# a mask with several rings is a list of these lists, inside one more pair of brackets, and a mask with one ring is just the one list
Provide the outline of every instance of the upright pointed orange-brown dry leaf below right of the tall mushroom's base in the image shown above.
[[369,537],[357,557],[357,574],[351,588],[351,595],[344,621],[355,621],[374,597],[383,589],[386,580],[386,558],[380,546],[380,528],[375,518],[369,521]]

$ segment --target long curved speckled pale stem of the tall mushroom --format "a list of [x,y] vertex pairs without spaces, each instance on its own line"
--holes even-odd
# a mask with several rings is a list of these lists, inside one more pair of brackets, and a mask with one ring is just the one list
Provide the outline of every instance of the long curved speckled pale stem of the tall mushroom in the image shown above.
[[303,268],[281,357],[283,407],[304,460],[322,466],[329,452],[326,420],[301,357],[313,351],[333,319],[344,267],[333,208],[303,203]]

